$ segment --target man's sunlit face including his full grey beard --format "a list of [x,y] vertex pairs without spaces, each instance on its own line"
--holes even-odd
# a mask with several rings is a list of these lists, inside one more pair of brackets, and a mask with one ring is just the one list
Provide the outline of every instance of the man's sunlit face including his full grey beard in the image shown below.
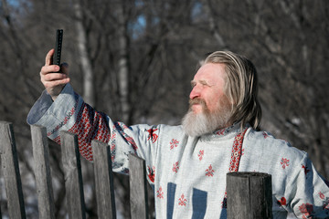
[[225,65],[208,63],[192,80],[190,108],[183,118],[183,129],[190,136],[201,136],[229,125],[232,104],[224,94]]

